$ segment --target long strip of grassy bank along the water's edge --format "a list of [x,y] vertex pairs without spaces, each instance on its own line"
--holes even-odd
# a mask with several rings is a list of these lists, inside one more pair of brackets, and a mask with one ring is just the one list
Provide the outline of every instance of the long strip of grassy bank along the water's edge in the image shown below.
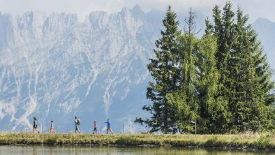
[[156,145],[275,149],[275,134],[239,135],[106,135],[65,133],[0,133],[0,145]]

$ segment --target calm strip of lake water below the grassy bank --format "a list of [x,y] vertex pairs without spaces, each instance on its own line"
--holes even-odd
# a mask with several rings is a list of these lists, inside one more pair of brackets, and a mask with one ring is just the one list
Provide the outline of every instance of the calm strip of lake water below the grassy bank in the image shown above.
[[178,147],[94,147],[94,146],[29,146],[13,145],[0,146],[0,154],[7,155],[135,155],[135,154],[225,154],[225,155],[252,155],[252,154],[275,154],[275,152],[248,152],[237,150],[219,149],[198,149],[198,148],[178,148]]

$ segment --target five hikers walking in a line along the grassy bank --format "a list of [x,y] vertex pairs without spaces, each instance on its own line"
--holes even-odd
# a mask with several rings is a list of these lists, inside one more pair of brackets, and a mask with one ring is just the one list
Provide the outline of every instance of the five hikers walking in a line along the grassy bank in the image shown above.
[[[112,133],[112,128],[111,128],[111,121],[110,119],[107,119],[107,121],[103,121],[103,123],[107,123],[107,134],[108,134],[108,131],[110,131]],[[77,117],[75,117],[75,133],[80,133],[80,128],[79,128],[79,125],[80,125],[80,119],[77,119]],[[37,129],[37,119],[36,117],[34,117],[34,129],[33,129],[33,133],[35,131],[37,131],[38,133],[40,133]],[[54,121],[51,121],[51,124],[50,124],[50,133],[55,133],[54,131]],[[94,133],[98,133],[98,130],[97,130],[97,125],[96,125],[96,121],[94,121]]]

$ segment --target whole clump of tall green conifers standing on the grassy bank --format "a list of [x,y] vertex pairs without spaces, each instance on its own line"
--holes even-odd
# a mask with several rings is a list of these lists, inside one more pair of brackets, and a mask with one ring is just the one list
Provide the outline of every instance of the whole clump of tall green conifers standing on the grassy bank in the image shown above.
[[195,13],[190,9],[179,30],[177,14],[168,6],[156,57],[147,68],[149,82],[143,110],[151,132],[240,133],[275,128],[272,70],[256,32],[241,8],[227,2],[213,8],[213,21],[205,20],[202,38],[195,36]]

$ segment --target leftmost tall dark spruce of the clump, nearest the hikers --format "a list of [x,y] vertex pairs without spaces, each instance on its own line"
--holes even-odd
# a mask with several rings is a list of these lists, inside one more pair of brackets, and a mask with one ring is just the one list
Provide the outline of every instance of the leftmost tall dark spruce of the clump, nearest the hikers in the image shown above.
[[161,31],[161,38],[156,40],[155,59],[150,59],[147,68],[155,82],[149,82],[147,98],[152,105],[144,105],[143,110],[151,113],[151,118],[136,119],[135,122],[145,123],[151,128],[151,132],[162,131],[163,133],[174,132],[174,115],[168,103],[168,96],[177,89],[177,81],[174,80],[177,74],[177,36],[179,22],[176,20],[176,13],[168,6],[166,17],[163,19],[164,31]]

